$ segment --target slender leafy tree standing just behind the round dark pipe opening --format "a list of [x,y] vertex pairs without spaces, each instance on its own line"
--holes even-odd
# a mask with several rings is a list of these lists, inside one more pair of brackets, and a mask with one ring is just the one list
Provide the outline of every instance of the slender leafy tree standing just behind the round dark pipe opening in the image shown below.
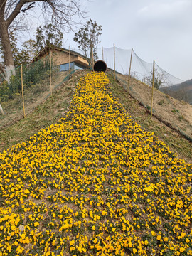
[[[73,40],[78,43],[78,48],[82,50],[90,65],[93,58],[97,58],[97,45],[100,43],[99,36],[102,34],[102,26],[98,26],[96,21],[90,19],[85,26],[75,33]],[[92,48],[92,50],[91,50]]]

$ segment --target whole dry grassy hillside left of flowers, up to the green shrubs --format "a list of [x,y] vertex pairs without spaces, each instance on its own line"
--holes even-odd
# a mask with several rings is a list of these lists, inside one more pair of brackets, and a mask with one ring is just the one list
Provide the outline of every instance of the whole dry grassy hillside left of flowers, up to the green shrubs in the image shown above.
[[22,97],[3,105],[5,116],[0,115],[0,151],[23,142],[42,128],[57,122],[70,107],[75,85],[87,71],[76,71],[70,81],[68,73],[55,74],[53,95],[50,96],[49,79],[26,91],[26,118],[23,118]]

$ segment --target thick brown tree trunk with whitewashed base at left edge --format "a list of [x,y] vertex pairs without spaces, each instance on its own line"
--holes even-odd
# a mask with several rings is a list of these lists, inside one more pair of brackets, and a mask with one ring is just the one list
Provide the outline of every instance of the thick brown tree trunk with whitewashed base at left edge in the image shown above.
[[14,58],[11,52],[11,43],[9,40],[8,26],[4,18],[0,18],[0,37],[4,50],[4,61],[6,66],[6,80],[9,82],[11,75],[15,75]]

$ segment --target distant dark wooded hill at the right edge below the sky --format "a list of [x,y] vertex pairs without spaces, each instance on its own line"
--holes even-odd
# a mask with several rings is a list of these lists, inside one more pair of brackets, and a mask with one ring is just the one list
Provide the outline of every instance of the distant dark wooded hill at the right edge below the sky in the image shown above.
[[192,79],[181,82],[178,85],[161,88],[160,90],[177,100],[183,100],[192,105]]

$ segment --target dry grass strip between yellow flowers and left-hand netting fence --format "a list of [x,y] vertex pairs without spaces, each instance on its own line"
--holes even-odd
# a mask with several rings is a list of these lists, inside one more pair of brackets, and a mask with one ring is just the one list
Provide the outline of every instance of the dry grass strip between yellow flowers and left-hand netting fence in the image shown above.
[[[68,110],[70,100],[73,97],[75,85],[78,79],[87,71],[76,71],[68,82],[63,82],[58,90],[53,92],[51,97],[41,103],[36,110],[28,114],[25,119],[21,119],[10,127],[0,130],[0,151],[10,148],[18,142],[23,142],[40,129],[48,127],[63,116]],[[42,82],[43,83],[43,82]]]

